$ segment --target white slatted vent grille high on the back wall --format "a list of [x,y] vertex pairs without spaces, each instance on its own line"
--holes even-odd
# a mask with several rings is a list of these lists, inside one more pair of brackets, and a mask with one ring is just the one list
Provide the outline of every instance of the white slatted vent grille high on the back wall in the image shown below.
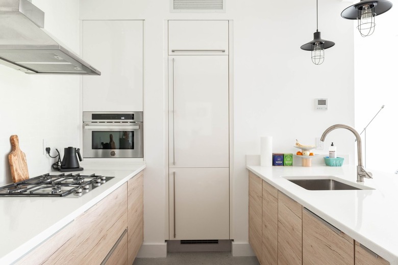
[[224,13],[226,0],[170,0],[171,12]]

